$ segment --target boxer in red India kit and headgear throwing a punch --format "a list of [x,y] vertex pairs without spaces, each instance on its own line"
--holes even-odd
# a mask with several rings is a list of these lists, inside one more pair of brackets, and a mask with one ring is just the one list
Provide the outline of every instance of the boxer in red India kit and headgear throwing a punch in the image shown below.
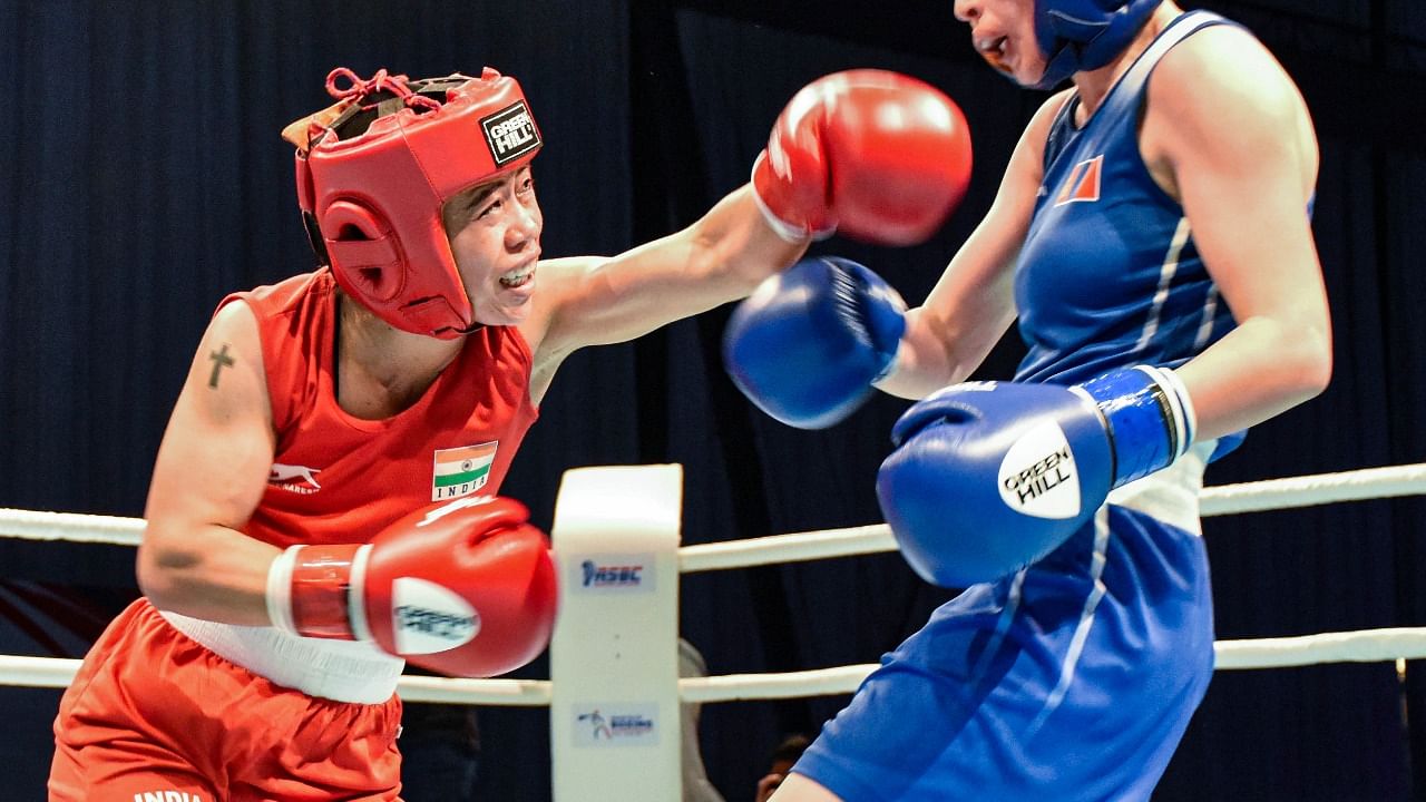
[[404,662],[489,676],[548,642],[548,544],[495,494],[565,357],[740,298],[838,225],[924,238],[970,168],[938,91],[829,76],[692,227],[540,260],[516,81],[328,90],[285,134],[321,267],[212,317],[154,467],[144,598],[60,704],[51,801],[399,799]]

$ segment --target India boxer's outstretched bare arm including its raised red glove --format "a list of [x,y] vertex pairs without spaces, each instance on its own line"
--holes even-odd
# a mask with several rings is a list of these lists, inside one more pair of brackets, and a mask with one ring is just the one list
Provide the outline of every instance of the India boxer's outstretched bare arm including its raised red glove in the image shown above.
[[964,118],[934,87],[876,70],[813,81],[773,124],[752,184],[697,223],[612,258],[540,264],[538,305],[520,327],[535,351],[532,397],[576,348],[742,298],[813,237],[924,240],[964,194],[970,161]]

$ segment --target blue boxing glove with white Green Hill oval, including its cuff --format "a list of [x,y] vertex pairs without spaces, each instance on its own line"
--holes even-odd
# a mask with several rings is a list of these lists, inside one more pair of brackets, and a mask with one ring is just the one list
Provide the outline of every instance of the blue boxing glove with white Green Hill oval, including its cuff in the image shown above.
[[1192,440],[1188,392],[1168,368],[1077,387],[955,384],[897,421],[877,501],[911,568],[964,588],[1045,557],[1111,489],[1168,467]]

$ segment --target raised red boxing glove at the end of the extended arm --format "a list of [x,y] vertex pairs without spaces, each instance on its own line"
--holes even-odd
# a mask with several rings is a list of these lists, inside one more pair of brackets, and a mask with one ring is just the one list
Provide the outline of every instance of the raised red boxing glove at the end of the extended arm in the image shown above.
[[935,87],[886,70],[817,78],[783,108],[753,164],[753,191],[791,241],[924,241],[965,197],[971,138]]

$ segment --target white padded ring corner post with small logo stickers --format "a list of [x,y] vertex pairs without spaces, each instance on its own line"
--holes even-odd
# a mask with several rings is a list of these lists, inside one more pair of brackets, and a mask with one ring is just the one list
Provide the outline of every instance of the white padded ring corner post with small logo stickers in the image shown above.
[[679,715],[680,465],[565,472],[550,532],[555,802],[683,798]]

